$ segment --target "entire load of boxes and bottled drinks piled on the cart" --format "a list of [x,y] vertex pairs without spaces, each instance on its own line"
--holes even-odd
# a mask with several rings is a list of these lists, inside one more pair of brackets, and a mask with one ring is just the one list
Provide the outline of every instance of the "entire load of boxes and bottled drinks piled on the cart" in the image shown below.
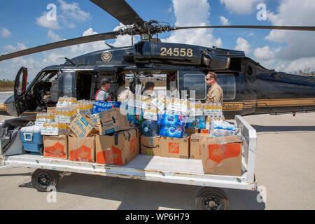
[[[166,96],[136,96],[123,104],[62,97],[48,111],[36,118],[45,157],[126,165],[141,151],[202,160],[205,174],[241,176],[241,141],[234,126],[224,121],[221,104]],[[156,122],[159,135],[141,135],[138,127],[144,120]],[[37,148],[40,151],[41,146]]]

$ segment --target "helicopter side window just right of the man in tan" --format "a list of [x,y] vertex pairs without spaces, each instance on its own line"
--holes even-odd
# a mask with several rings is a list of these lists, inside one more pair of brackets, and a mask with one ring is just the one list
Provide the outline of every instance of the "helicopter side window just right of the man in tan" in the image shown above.
[[227,73],[218,73],[218,84],[221,85],[223,90],[224,99],[235,99],[236,83],[235,75]]

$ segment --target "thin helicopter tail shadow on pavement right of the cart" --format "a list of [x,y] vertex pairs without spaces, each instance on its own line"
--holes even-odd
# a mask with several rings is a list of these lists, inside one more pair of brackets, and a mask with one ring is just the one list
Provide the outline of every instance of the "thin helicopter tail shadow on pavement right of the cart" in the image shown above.
[[251,126],[256,132],[315,132],[315,126]]

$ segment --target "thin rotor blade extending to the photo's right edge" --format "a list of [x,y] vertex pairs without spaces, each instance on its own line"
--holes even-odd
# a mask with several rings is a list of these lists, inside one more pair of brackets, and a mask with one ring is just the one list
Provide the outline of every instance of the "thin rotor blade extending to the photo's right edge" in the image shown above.
[[203,29],[203,28],[228,28],[228,29],[280,29],[280,30],[299,30],[299,31],[315,31],[315,27],[299,27],[299,26],[195,26],[195,27],[174,27],[175,30],[179,29]]

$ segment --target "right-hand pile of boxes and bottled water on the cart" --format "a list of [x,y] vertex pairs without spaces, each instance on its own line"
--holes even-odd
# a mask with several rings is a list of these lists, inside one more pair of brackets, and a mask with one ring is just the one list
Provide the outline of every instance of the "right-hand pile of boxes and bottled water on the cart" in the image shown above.
[[136,97],[128,105],[144,120],[157,121],[160,130],[157,136],[141,135],[141,154],[202,160],[205,174],[241,176],[241,141],[230,129],[234,125],[224,121],[222,104],[159,96]]

